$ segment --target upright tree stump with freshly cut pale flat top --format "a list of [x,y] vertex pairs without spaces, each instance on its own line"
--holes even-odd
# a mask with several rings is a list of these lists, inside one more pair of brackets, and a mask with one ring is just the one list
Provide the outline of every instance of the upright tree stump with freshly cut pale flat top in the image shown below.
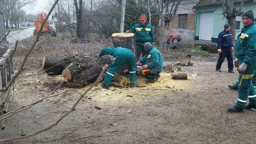
[[[136,46],[135,46],[135,37],[134,33],[113,33],[112,40],[114,47],[124,47],[130,49],[136,57]],[[123,71],[128,69],[128,65],[124,64],[118,70],[119,74],[123,74]]]

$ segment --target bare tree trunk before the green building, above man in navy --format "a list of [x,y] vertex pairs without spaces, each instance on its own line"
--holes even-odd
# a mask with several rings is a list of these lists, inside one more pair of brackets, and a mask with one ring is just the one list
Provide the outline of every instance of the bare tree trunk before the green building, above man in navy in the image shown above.
[[236,16],[242,16],[243,11],[243,2],[244,0],[241,0],[239,9],[236,9],[234,7],[234,0],[220,0],[222,4],[222,15],[227,18],[228,23],[231,27],[231,34],[232,34],[232,42],[234,43],[236,41]]

